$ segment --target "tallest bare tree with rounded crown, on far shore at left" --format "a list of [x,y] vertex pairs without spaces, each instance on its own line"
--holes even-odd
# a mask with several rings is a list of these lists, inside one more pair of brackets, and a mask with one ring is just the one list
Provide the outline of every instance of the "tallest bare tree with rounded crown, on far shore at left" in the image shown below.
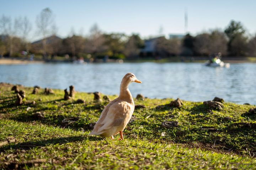
[[49,35],[50,30],[53,26],[53,14],[50,8],[45,8],[41,11],[41,13],[37,16],[36,24],[38,28],[38,32],[43,36],[43,56],[46,56],[46,37]]

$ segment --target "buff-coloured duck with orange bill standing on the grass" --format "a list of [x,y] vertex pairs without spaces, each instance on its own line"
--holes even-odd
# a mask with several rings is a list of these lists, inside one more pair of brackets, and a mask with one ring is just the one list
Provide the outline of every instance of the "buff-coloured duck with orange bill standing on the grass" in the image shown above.
[[102,137],[111,137],[120,134],[118,140],[123,140],[123,130],[132,118],[134,111],[134,101],[128,86],[130,83],[142,83],[133,73],[124,75],[119,96],[107,104],[101,112],[100,118],[96,122],[94,129],[89,135],[99,135]]

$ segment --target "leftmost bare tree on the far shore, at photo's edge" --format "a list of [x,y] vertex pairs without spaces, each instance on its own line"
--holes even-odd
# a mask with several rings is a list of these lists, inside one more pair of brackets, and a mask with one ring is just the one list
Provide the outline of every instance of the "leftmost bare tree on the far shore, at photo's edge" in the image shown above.
[[21,27],[21,19],[15,18],[14,22],[10,17],[2,15],[0,18],[0,31],[6,35],[7,44],[9,44],[9,56],[13,55],[13,41],[18,34],[18,30]]

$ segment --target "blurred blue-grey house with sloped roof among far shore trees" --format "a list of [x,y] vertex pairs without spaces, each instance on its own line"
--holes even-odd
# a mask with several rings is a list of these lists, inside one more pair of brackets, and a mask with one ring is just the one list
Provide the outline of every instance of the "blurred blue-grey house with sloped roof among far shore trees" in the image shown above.
[[152,57],[157,55],[156,45],[163,36],[145,40],[145,47],[140,50],[140,57]]

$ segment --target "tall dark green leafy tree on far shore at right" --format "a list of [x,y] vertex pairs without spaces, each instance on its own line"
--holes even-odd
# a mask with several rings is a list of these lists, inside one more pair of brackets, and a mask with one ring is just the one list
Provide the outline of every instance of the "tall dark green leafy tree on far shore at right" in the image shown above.
[[[244,35],[245,29],[242,26],[241,22],[236,22],[232,20],[229,26],[225,29],[225,33],[229,38],[229,42],[228,42],[229,55],[235,55],[235,56],[244,55],[245,54],[244,52],[246,51],[246,48],[244,47],[245,47],[245,44],[247,43],[247,38]],[[236,49],[236,47],[239,47],[239,49]],[[242,47],[244,49],[241,49]]]

